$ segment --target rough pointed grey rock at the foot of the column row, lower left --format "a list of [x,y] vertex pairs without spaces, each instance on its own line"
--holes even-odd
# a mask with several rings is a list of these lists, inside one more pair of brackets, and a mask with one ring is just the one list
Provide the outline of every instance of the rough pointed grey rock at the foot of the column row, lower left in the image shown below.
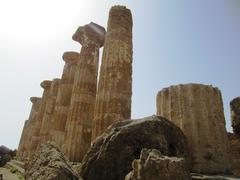
[[28,180],[74,180],[78,177],[61,151],[54,145],[42,144],[26,168]]

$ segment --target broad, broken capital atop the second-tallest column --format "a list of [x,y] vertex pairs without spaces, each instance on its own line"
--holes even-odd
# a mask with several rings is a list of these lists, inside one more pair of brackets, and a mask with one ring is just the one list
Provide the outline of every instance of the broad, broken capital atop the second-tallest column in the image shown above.
[[80,26],[73,34],[72,39],[79,42],[82,46],[87,44],[96,44],[102,47],[105,39],[104,27],[93,22]]

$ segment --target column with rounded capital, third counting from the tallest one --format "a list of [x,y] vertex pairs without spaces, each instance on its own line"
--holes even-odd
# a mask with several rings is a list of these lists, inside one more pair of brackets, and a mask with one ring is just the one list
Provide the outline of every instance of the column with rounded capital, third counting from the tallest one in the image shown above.
[[56,105],[53,115],[53,126],[50,131],[52,140],[61,147],[64,143],[67,115],[72,97],[74,76],[79,60],[79,53],[65,52],[63,54],[65,65],[57,94]]

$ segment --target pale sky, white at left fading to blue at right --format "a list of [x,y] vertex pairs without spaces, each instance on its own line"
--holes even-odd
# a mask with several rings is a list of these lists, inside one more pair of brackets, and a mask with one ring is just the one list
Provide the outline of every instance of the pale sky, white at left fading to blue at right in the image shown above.
[[31,96],[40,82],[59,78],[78,26],[106,27],[112,5],[133,14],[132,117],[155,114],[159,90],[180,83],[222,91],[227,129],[229,101],[240,96],[239,0],[0,0],[0,145],[17,148]]

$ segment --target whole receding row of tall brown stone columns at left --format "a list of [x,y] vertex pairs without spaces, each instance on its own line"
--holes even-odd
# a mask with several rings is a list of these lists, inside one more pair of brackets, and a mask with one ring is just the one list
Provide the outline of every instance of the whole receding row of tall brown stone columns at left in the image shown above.
[[[81,26],[72,39],[80,53],[65,52],[61,79],[43,81],[42,98],[32,98],[18,157],[31,156],[54,141],[71,161],[81,161],[91,141],[115,121],[129,119],[132,95],[132,16],[114,6],[108,31],[95,23]],[[104,45],[98,78],[99,50]],[[98,84],[98,86],[97,86]],[[98,89],[98,90],[97,90]]]

